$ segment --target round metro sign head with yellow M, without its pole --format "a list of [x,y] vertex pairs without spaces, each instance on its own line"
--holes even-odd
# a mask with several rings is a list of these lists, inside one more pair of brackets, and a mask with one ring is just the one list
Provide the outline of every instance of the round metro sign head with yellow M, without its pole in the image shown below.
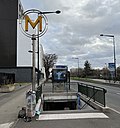
[[[31,19],[32,16],[35,20]],[[39,32],[35,32],[33,33],[33,31],[29,31],[29,27],[32,27],[32,29],[34,29],[36,26],[38,26],[37,30],[39,30]],[[43,36],[48,28],[48,20],[47,17],[39,10],[36,9],[31,9],[31,10],[27,10],[23,13],[22,17],[21,17],[21,28],[23,33],[28,36],[28,37],[32,37],[32,35],[34,34],[35,37],[41,37]]]

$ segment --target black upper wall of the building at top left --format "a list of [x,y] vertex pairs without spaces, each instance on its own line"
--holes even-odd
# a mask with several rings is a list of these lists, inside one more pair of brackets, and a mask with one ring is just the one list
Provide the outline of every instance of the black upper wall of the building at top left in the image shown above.
[[17,19],[22,12],[20,0],[0,1],[0,67],[17,66]]

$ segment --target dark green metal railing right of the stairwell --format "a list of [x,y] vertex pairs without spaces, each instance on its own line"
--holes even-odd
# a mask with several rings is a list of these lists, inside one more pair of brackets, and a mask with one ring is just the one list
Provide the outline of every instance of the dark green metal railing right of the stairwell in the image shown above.
[[106,106],[105,93],[107,90],[101,87],[96,87],[89,84],[78,83],[78,92],[84,94],[89,98],[88,101],[93,99],[94,102],[98,102],[102,106]]

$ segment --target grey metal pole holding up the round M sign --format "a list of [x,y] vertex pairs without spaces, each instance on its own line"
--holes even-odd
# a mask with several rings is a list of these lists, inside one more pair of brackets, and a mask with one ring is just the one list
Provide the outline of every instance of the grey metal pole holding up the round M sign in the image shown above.
[[32,64],[33,64],[33,78],[32,78],[32,91],[35,91],[35,35],[32,35],[32,48],[33,48],[33,55],[32,55]]

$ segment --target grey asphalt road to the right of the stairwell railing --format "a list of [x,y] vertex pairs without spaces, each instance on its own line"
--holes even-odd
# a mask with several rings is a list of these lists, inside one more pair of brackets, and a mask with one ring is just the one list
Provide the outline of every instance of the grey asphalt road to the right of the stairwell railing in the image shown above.
[[[71,82],[81,82],[81,81],[71,81]],[[104,84],[94,84],[88,82],[82,82],[82,83],[87,83],[94,86],[105,88],[107,90],[106,93],[107,106],[120,113],[120,87],[114,87]],[[77,86],[72,86],[71,88],[77,90]]]

